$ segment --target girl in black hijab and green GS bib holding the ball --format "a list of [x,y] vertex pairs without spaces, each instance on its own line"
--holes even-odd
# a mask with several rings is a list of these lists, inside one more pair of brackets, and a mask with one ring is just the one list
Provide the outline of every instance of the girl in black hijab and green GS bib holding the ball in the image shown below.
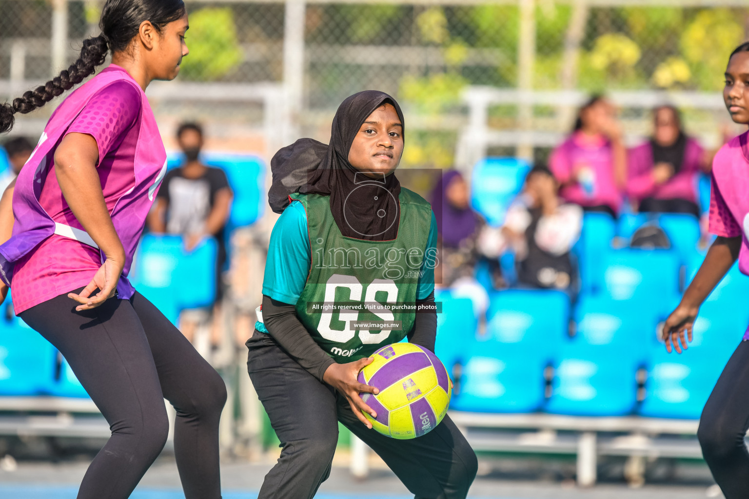
[[[270,236],[263,304],[246,344],[249,376],[283,450],[259,499],[312,498],[330,474],[339,421],[416,497],[465,498],[476,476],[476,455],[449,416],[431,431],[415,428],[416,438],[397,440],[363,415],[379,423],[388,416],[374,397],[370,405],[360,397],[377,394],[357,381],[369,355],[404,337],[432,352],[437,331],[434,312],[392,307],[378,315],[363,307],[434,303],[437,224],[431,206],[401,188],[393,173],[403,146],[398,103],[364,91],[339,107],[329,145],[303,138],[271,161],[268,198],[282,215]],[[321,312],[315,309],[321,302],[350,308]],[[383,320],[401,328],[353,325]]]

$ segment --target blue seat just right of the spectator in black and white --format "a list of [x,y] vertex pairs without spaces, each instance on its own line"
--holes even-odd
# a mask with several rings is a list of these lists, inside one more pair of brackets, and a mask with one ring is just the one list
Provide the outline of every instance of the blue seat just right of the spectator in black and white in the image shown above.
[[616,233],[613,218],[606,213],[583,215],[583,229],[577,242],[576,253],[580,266],[580,288],[597,292],[603,280],[603,260],[611,250],[611,239]]

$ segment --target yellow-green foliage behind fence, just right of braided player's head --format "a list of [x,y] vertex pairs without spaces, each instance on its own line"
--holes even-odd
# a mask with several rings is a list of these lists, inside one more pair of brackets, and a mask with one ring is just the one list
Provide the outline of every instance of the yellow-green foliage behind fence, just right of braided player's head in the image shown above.
[[207,7],[191,13],[186,39],[189,55],[181,66],[185,79],[222,79],[242,62],[237,27],[228,7]]

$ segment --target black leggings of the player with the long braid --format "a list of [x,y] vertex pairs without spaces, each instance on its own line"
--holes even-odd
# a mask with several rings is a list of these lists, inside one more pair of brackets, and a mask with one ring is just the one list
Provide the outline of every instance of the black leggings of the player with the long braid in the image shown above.
[[175,457],[185,498],[220,498],[219,416],[226,388],[219,374],[139,293],[93,310],[76,312],[75,306],[66,294],[20,317],[64,355],[112,429],[78,499],[130,496],[166,443],[164,398],[177,411]]

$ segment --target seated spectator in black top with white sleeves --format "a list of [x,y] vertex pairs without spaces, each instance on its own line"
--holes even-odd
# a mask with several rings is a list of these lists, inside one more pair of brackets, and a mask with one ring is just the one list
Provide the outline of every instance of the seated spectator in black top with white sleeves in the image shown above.
[[543,165],[528,173],[507,211],[502,236],[515,249],[518,282],[530,287],[574,289],[570,250],[580,237],[583,212],[557,195],[557,180]]

